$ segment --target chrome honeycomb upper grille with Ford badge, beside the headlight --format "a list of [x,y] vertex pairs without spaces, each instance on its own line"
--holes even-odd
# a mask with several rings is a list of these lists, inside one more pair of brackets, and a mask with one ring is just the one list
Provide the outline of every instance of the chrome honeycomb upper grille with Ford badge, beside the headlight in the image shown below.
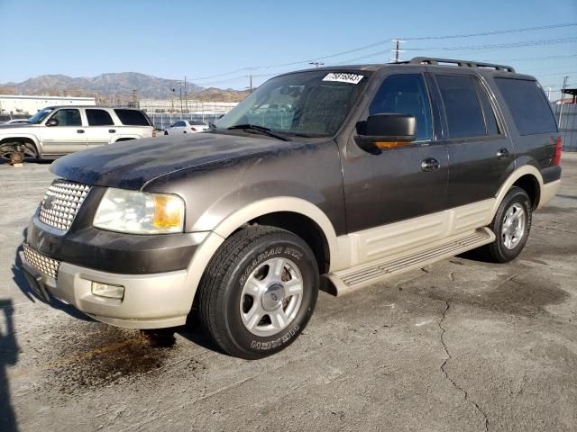
[[40,220],[67,231],[89,191],[86,184],[54,180],[41,202]]

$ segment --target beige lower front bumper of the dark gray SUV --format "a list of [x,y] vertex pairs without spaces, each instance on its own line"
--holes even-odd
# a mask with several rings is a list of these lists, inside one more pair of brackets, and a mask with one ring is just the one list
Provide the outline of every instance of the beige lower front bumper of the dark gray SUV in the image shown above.
[[[26,259],[23,252],[20,258],[33,291],[44,300],[54,296],[96,320],[131,329],[175,327],[187,320],[192,302],[191,290],[185,283],[187,270],[120,275],[59,262],[57,277],[51,277],[38,268],[37,260]],[[123,285],[123,300],[94,295],[91,290],[93,281]]]

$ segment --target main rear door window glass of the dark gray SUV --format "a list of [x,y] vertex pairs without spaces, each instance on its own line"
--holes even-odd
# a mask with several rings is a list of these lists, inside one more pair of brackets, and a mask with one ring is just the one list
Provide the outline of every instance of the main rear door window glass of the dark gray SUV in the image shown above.
[[471,76],[437,75],[449,138],[486,135],[481,102]]

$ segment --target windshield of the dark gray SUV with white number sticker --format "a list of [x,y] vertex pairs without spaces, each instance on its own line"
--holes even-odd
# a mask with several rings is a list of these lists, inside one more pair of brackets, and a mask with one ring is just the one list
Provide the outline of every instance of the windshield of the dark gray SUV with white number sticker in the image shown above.
[[367,81],[364,71],[277,76],[216,121],[215,127],[250,124],[287,135],[333,136]]

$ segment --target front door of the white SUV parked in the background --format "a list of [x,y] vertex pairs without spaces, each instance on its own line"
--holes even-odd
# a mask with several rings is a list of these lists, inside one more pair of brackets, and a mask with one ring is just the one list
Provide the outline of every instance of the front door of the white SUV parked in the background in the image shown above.
[[66,155],[87,148],[87,128],[82,126],[77,108],[60,108],[46,122],[50,120],[56,124],[43,126],[41,131],[44,155]]

